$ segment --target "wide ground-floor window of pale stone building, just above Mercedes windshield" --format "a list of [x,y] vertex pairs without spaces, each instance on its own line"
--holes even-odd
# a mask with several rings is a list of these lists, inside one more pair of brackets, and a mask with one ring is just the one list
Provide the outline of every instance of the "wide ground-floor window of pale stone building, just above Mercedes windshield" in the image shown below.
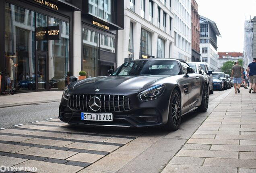
[[141,28],[140,58],[151,56],[151,33]]

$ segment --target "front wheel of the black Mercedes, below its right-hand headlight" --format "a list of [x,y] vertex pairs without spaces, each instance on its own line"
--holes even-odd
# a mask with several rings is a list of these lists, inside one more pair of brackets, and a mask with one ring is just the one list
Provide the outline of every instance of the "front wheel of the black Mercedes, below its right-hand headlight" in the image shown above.
[[175,131],[180,128],[181,122],[181,98],[177,90],[173,90],[168,111],[168,121],[165,130]]

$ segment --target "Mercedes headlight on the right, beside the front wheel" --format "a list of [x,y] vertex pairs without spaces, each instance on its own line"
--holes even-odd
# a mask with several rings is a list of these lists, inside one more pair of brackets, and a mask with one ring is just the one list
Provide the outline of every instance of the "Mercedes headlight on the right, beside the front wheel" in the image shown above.
[[154,87],[151,87],[145,91],[142,91],[138,94],[138,99],[140,101],[151,101],[157,99],[163,94],[165,89],[165,84],[159,84]]

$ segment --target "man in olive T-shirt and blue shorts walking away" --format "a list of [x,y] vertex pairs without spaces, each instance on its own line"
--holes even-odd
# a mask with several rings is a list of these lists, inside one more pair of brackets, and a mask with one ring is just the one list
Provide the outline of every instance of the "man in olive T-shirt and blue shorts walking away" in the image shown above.
[[238,64],[238,60],[235,60],[235,65],[232,67],[231,79],[232,78],[234,78],[235,94],[240,93],[240,87],[243,78],[243,67]]

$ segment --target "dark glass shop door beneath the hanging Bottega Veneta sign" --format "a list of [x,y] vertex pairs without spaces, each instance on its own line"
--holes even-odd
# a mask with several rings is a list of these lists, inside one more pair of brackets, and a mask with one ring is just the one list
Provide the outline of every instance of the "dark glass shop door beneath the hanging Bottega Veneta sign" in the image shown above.
[[48,78],[47,78],[47,51],[37,51],[37,91],[47,91]]

